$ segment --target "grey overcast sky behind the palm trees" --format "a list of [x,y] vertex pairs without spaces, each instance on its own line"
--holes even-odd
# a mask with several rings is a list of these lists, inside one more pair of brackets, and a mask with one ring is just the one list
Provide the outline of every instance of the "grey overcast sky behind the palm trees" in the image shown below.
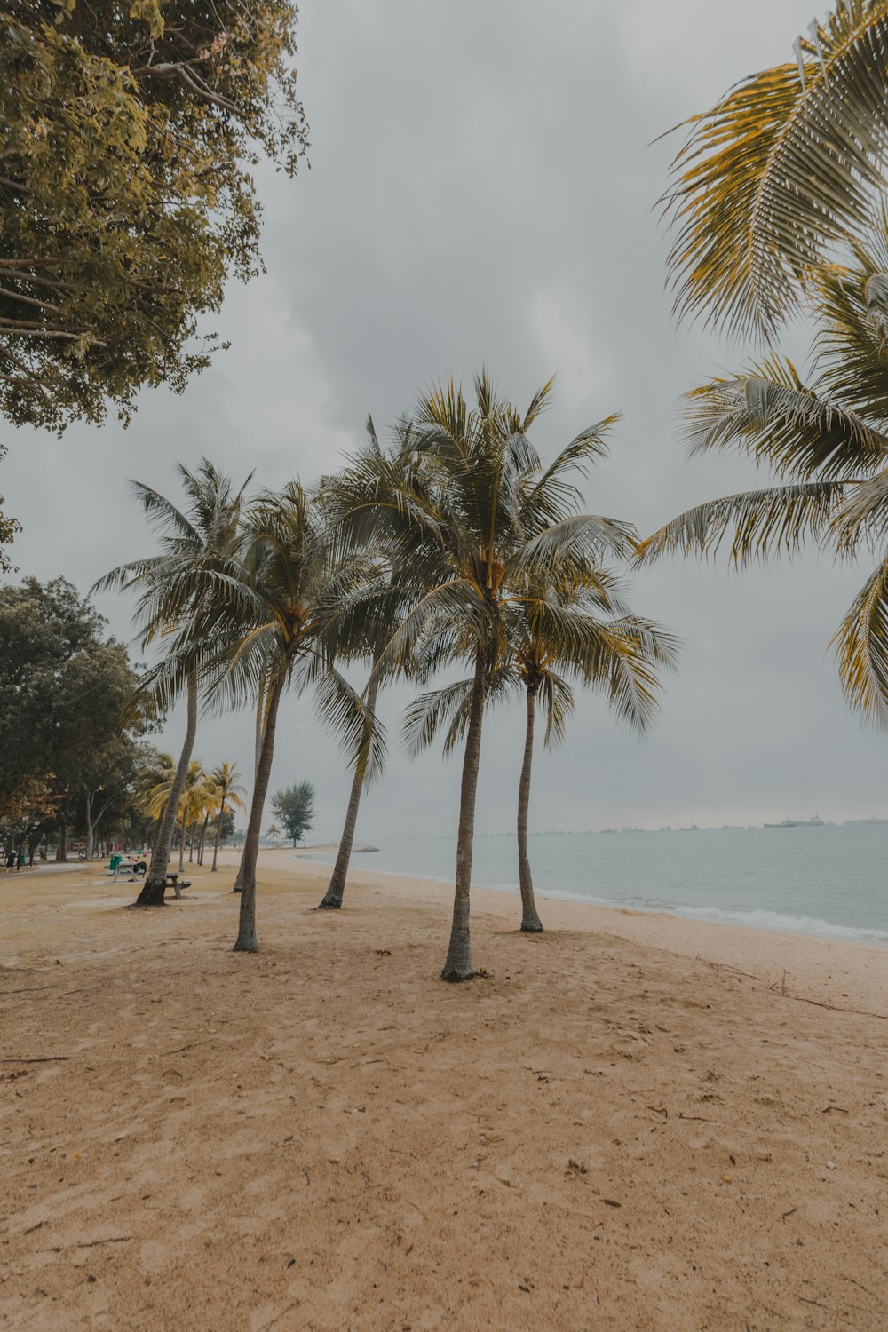
[[[359,444],[367,412],[382,428],[433,378],[470,388],[482,362],[518,404],[556,372],[555,408],[535,433],[543,454],[623,413],[588,507],[644,534],[764,481],[728,457],[684,458],[680,394],[751,349],[672,324],[655,202],[678,139],[652,140],[792,59],[811,0],[302,0],[301,11],[312,170],[260,176],[268,276],[232,285],[216,325],[232,349],[184,397],[145,393],[126,432],[73,426],[56,441],[4,428],[0,490],[24,523],[21,573],[63,573],[85,590],[149,550],[129,477],[176,496],[176,461],[209,456],[236,478],[312,482]],[[888,739],[851,714],[828,651],[865,575],[811,553],[743,575],[724,561],[672,561],[636,577],[631,603],[680,634],[682,673],[647,741],[602,698],[580,699],[564,747],[538,759],[533,826],[885,813]],[[129,638],[125,598],[100,606]],[[363,807],[365,839],[455,829],[458,763],[407,762],[399,702],[383,701],[391,757]],[[486,727],[482,831],[513,826],[522,721],[517,709]],[[181,734],[173,718],[169,747]],[[252,773],[250,718],[208,721],[196,754]],[[290,699],[272,789],[302,778],[318,787],[316,834],[335,836],[347,774],[310,703]]]

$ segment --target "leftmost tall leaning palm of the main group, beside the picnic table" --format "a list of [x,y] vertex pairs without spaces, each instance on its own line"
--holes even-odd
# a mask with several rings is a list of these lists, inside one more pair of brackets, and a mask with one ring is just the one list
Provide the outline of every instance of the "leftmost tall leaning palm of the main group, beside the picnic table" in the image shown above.
[[[136,619],[141,629],[142,647],[169,638],[197,614],[205,586],[198,575],[205,573],[208,559],[232,557],[241,538],[241,510],[252,473],[238,490],[206,458],[196,473],[181,464],[178,473],[186,500],[182,509],[152,486],[133,482],[136,498],[160,534],[160,553],[120,565],[93,587],[93,591],[120,589],[138,594]],[[169,702],[182,694],[186,698],[185,741],[137,906],[164,904],[176,815],[197,737],[194,673],[181,681],[177,693],[169,693]]]

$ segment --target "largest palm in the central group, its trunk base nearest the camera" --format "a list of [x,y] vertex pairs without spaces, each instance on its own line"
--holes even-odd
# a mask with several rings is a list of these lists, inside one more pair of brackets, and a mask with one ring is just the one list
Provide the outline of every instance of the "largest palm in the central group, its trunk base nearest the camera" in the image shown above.
[[576,513],[566,476],[603,450],[614,418],[582,432],[546,470],[527,438],[551,381],[521,416],[482,373],[470,408],[453,382],[419,398],[401,428],[413,462],[365,453],[338,488],[337,526],[353,542],[375,541],[417,589],[415,605],[381,654],[375,674],[405,671],[417,658],[437,670],[471,662],[457,874],[445,980],[474,975],[469,900],[481,734],[489,681],[507,653],[503,609],[517,581],[560,561],[623,555],[635,549],[630,525]]

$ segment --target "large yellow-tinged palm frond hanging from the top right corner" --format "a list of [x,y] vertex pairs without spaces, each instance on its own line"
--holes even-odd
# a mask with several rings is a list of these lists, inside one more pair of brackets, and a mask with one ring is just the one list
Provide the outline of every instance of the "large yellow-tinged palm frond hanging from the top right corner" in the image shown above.
[[888,161],[888,0],[837,0],[797,60],[694,116],[664,196],[680,312],[772,337],[805,274],[877,221]]

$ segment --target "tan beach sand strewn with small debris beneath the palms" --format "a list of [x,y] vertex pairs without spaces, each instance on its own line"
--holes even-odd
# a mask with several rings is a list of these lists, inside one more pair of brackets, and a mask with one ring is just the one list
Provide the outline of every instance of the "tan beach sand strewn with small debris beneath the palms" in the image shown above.
[[0,879],[0,1327],[888,1327],[888,951],[233,872]]

